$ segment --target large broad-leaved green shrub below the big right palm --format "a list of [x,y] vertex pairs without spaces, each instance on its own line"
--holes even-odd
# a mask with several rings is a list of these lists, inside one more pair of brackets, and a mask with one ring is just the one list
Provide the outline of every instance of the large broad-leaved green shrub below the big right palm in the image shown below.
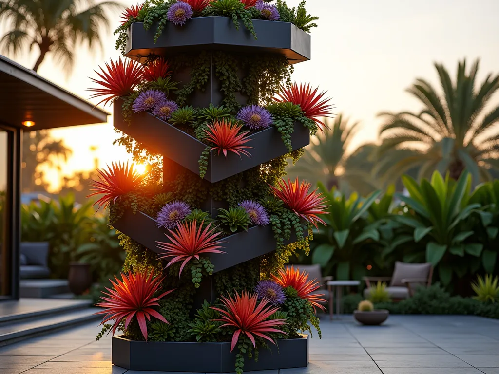
[[409,196],[397,196],[407,211],[394,219],[413,235],[416,248],[425,247],[424,255],[418,249],[410,253],[411,262],[430,262],[444,286],[453,275],[461,278],[477,272],[484,244],[473,235],[473,220],[468,219],[481,208],[469,199],[471,176],[465,172],[455,182],[449,174],[444,180],[435,172],[431,181],[422,180],[421,184],[407,176],[402,180]]

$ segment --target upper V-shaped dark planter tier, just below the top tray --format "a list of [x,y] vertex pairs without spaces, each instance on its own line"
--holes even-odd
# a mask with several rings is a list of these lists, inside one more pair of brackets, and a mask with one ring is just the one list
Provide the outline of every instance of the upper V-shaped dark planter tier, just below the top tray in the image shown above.
[[[115,105],[114,127],[131,136],[137,142],[147,144],[163,157],[199,175],[199,159],[206,144],[175,126],[148,112],[133,114],[131,122],[128,124],[123,119],[121,106]],[[204,179],[211,183],[219,182],[289,152],[275,127],[254,133],[250,138],[250,142],[246,145],[253,147],[248,150],[251,157],[242,155],[240,158],[235,153],[229,152],[226,159],[223,154],[218,155],[217,151],[211,151]],[[310,132],[308,128],[301,123],[296,123],[291,136],[293,150],[305,147],[309,143]]]

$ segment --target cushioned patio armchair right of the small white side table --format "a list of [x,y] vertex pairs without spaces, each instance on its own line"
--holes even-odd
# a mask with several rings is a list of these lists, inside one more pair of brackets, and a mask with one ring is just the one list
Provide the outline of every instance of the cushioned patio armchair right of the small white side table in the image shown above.
[[430,287],[433,278],[433,267],[430,263],[409,264],[395,262],[395,269],[391,277],[363,277],[367,288],[364,297],[370,295],[371,285],[376,282],[387,282],[386,291],[393,300],[405,300],[414,295],[418,286]]

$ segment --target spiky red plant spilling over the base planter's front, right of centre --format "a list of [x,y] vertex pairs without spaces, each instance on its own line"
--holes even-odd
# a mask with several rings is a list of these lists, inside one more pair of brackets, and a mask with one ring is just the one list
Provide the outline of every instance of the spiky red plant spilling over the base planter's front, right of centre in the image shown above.
[[227,297],[222,296],[222,308],[211,307],[222,313],[222,317],[215,321],[225,322],[221,327],[231,326],[236,328],[232,336],[231,352],[236,347],[241,334],[246,334],[255,347],[255,336],[268,340],[275,344],[274,340],[265,333],[279,333],[286,334],[285,332],[276,329],[276,326],[285,325],[283,319],[275,319],[265,321],[268,317],[274,314],[279,307],[269,305],[266,299],[263,299],[257,305],[257,296],[243,291],[241,296],[236,291],[234,298],[231,295]]

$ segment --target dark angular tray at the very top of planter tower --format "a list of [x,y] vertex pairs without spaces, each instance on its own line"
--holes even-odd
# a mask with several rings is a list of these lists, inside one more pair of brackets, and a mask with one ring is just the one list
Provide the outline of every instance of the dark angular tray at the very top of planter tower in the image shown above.
[[157,26],[154,23],[149,30],[144,30],[142,22],[132,23],[125,55],[141,60],[149,54],[172,55],[212,49],[279,53],[291,64],[310,59],[310,35],[289,22],[253,19],[255,40],[241,20],[237,30],[229,17],[195,17],[184,26],[167,22],[154,43]]

